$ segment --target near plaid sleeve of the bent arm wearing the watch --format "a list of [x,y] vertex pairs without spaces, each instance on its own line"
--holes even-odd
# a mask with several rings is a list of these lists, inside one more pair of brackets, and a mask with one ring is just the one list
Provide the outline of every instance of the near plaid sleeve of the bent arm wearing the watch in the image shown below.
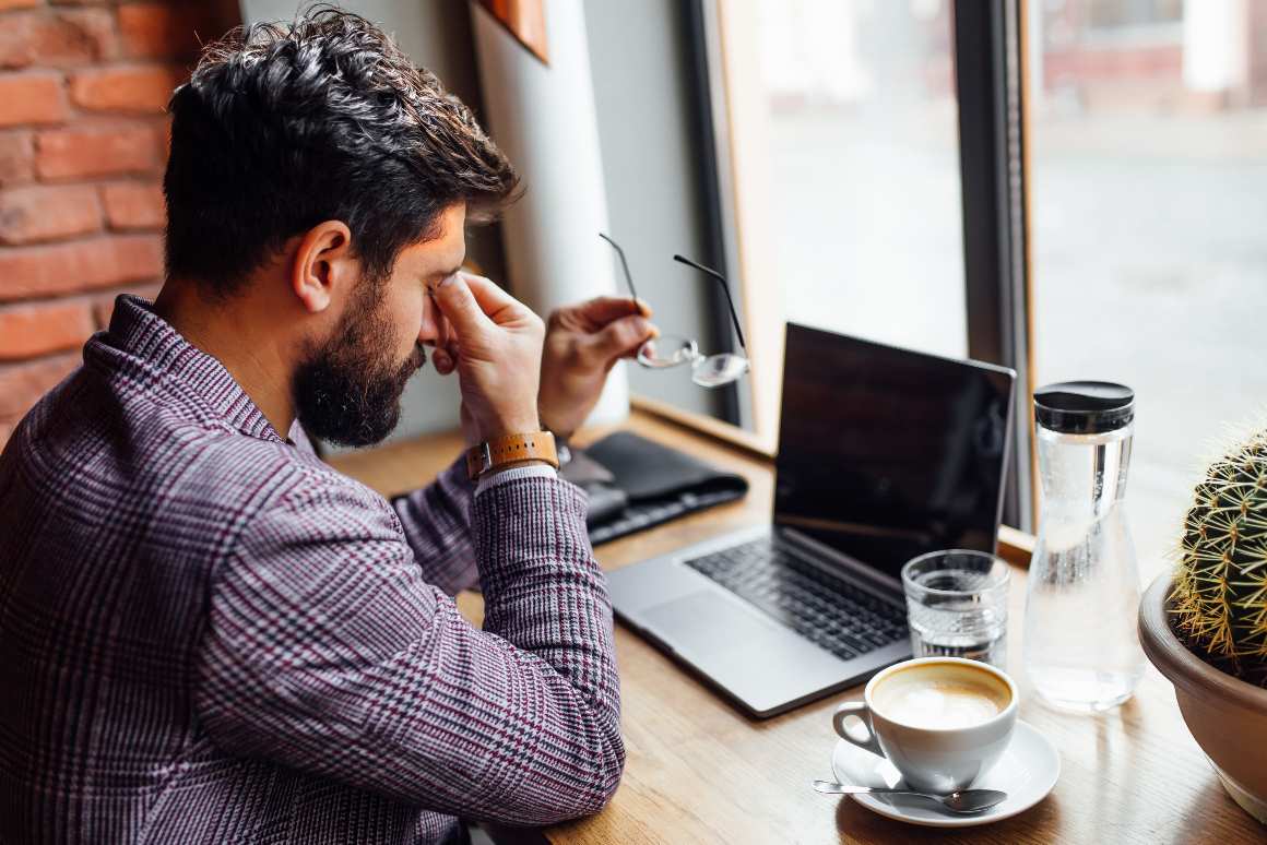
[[474,502],[483,631],[371,495],[305,485],[215,571],[196,697],[212,740],[466,818],[599,810],[625,750],[583,494],[537,476]]

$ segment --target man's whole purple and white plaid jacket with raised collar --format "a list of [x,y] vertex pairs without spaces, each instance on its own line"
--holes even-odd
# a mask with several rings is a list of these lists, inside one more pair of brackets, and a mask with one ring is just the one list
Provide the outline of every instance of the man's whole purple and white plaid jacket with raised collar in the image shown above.
[[389,504],[128,296],[0,455],[0,841],[433,841],[595,812],[623,760],[564,481]]

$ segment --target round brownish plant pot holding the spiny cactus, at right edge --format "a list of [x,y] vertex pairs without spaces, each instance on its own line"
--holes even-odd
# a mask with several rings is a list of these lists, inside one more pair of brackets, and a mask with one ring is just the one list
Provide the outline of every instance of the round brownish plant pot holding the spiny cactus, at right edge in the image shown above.
[[1267,825],[1267,689],[1205,663],[1175,636],[1167,607],[1171,578],[1162,575],[1139,603],[1139,642],[1175,684],[1180,712],[1224,789]]

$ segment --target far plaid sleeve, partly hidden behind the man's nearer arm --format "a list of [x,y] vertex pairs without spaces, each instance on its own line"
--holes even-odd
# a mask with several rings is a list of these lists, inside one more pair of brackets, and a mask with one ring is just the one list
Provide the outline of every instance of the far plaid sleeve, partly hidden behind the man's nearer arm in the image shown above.
[[474,490],[459,457],[427,486],[392,499],[423,579],[450,595],[479,581],[470,519]]

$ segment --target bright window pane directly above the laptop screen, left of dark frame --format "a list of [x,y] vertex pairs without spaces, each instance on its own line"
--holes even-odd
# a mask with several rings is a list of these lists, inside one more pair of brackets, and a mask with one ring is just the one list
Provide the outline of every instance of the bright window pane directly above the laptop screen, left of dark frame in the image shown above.
[[[967,353],[950,4],[760,0],[767,231],[788,321]],[[764,172],[761,172],[764,171]]]

